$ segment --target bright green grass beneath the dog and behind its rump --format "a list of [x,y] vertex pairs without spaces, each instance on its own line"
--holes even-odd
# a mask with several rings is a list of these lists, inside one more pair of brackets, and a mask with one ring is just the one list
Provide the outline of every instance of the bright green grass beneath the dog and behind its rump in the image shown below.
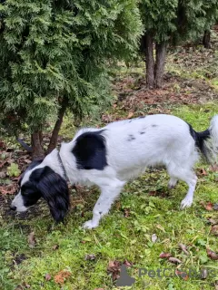
[[[172,113],[190,122],[195,130],[205,130],[213,114],[218,111],[217,103],[183,106]],[[63,128],[70,130],[69,123]],[[72,130],[72,128],[71,128]],[[209,166],[198,164],[207,175],[199,176],[193,207],[180,210],[180,202],[185,196],[186,185],[180,182],[173,189],[167,189],[168,176],[163,169],[149,170],[139,179],[129,182],[119,201],[114,203],[110,214],[94,230],[84,230],[84,221],[91,218],[92,208],[97,199],[96,189],[87,189],[80,201],[72,208],[64,225],[51,228],[53,221],[45,204],[40,205],[36,217],[25,220],[6,218],[0,228],[0,289],[15,289],[16,285],[30,285],[30,289],[116,289],[111,275],[107,274],[109,261],[125,259],[134,263],[128,272],[136,283],[126,289],[213,289],[218,280],[217,261],[206,255],[206,247],[217,251],[217,237],[210,233],[207,218],[218,220],[217,211],[207,211],[201,201],[217,202],[217,172]],[[158,196],[149,196],[156,191]],[[72,193],[73,200],[76,195]],[[74,202],[73,202],[74,204]],[[124,210],[130,214],[124,218]],[[27,236],[35,231],[36,245],[28,247]],[[152,242],[151,236],[157,240]],[[190,256],[185,256],[179,243],[188,246]],[[55,245],[59,247],[53,249]],[[200,271],[203,268],[216,269],[216,278],[205,280],[180,277],[139,278],[138,269],[154,270],[176,266],[159,258],[161,252],[171,253],[183,261],[183,269]],[[94,254],[94,260],[85,260],[87,254]],[[25,260],[16,265],[14,260],[25,255]],[[54,275],[67,269],[71,272],[62,287],[54,283]],[[46,281],[45,275],[51,275]],[[146,285],[146,287],[144,286]],[[124,287],[123,287],[124,289]]]

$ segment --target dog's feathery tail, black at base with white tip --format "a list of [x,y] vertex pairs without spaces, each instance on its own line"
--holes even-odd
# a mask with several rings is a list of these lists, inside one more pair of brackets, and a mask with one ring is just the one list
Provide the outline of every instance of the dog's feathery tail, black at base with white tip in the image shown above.
[[218,164],[218,115],[213,117],[209,129],[196,132],[190,128],[190,132],[207,162]]

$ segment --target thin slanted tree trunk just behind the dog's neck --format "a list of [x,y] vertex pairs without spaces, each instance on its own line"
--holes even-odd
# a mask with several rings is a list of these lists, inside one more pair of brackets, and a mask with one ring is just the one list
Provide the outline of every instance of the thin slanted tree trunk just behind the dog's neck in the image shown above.
[[61,129],[61,125],[63,122],[64,113],[66,111],[67,105],[68,105],[68,100],[66,98],[63,98],[63,101],[61,102],[61,107],[58,111],[57,121],[55,122],[54,130],[53,130],[52,137],[50,139],[46,154],[49,154],[52,150],[54,150],[54,148],[56,148],[58,133]]

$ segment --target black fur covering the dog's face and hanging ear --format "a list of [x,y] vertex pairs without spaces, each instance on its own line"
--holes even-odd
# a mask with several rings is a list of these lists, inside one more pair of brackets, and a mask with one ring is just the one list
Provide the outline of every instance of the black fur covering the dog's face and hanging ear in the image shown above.
[[35,169],[22,185],[21,194],[26,207],[33,206],[41,197],[45,198],[54,220],[64,220],[70,204],[67,183],[50,167]]

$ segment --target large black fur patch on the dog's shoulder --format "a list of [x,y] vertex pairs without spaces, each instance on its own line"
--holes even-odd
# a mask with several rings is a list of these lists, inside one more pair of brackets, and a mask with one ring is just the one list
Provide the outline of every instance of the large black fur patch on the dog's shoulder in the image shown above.
[[72,150],[77,169],[103,170],[107,166],[103,131],[84,132],[75,141]]

